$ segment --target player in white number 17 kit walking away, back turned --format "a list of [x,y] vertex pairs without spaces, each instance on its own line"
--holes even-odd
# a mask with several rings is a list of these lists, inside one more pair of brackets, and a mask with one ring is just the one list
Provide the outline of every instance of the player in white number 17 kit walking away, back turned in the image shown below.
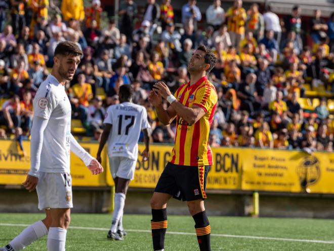
[[115,183],[114,212],[111,228],[107,237],[123,240],[127,233],[122,226],[123,208],[133,180],[138,158],[138,140],[141,130],[144,132],[145,150],[143,160],[148,160],[150,125],[144,106],[132,103],[133,89],[130,85],[119,88],[119,104],[110,105],[104,119],[103,130],[97,160],[101,162],[101,152],[108,140],[110,172]]

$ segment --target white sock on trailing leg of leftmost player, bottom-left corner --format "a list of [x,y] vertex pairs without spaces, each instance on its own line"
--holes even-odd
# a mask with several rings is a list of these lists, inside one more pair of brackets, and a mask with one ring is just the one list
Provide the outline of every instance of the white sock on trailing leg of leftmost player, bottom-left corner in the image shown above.
[[42,221],[38,221],[24,229],[9,243],[9,245],[11,245],[15,251],[18,251],[47,234],[47,227]]

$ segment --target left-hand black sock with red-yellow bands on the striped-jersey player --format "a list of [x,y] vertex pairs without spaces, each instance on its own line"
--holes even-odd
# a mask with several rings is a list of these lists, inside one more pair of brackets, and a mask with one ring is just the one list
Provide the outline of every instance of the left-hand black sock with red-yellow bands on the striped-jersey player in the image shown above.
[[164,235],[166,234],[167,224],[166,208],[152,209],[151,229],[154,250],[164,248]]

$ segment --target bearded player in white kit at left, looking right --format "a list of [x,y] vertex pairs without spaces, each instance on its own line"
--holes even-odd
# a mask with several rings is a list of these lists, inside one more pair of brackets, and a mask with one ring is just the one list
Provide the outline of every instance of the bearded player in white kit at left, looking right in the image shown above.
[[100,163],[87,153],[71,134],[71,105],[65,82],[73,78],[82,52],[72,42],[61,42],[55,49],[51,75],[41,83],[33,100],[31,128],[31,167],[23,186],[38,195],[38,208],[46,218],[24,229],[0,250],[17,251],[48,235],[48,250],[65,250],[66,230],[70,223],[72,187],[70,151],[77,155],[92,174],[103,171]]

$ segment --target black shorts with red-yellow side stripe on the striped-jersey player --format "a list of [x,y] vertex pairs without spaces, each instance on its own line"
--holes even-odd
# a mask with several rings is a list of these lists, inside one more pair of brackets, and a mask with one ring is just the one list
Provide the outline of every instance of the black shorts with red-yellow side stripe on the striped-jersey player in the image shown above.
[[183,166],[168,162],[154,192],[173,195],[183,201],[206,199],[206,176],[210,166]]

